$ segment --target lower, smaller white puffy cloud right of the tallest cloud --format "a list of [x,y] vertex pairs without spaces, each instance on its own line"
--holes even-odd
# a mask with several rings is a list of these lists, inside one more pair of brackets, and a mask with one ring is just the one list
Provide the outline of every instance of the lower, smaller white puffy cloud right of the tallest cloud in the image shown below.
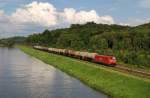
[[73,8],[65,8],[62,13],[64,21],[68,23],[80,23],[84,24],[86,22],[113,24],[114,20],[111,16],[99,16],[95,10],[91,11],[79,11],[77,12]]

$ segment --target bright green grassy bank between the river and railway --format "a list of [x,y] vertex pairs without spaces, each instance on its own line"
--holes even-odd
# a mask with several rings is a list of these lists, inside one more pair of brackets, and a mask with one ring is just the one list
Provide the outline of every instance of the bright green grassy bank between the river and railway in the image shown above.
[[34,50],[27,46],[17,47],[114,98],[150,98],[150,82],[141,78],[97,67],[92,63]]

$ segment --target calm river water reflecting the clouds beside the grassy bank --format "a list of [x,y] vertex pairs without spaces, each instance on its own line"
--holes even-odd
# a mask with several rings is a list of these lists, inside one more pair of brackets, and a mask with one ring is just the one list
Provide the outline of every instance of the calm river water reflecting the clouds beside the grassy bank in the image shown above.
[[19,49],[0,48],[0,98],[107,98]]

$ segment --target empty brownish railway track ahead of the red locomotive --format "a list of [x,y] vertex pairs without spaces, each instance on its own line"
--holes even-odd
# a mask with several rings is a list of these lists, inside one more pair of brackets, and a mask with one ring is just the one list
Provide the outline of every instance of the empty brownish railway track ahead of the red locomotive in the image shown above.
[[115,67],[119,70],[123,70],[123,71],[127,71],[127,72],[130,72],[130,73],[135,73],[135,74],[139,74],[139,75],[142,75],[142,76],[150,77],[150,72],[145,72],[145,71],[142,71],[142,70],[132,69],[132,68],[128,68],[128,67],[125,67],[125,66],[122,66],[122,65],[116,65]]

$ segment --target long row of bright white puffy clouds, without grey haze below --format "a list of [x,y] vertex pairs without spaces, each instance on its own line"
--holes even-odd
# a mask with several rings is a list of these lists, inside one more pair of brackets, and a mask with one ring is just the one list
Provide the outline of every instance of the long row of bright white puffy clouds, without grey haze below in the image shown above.
[[39,24],[47,27],[61,23],[114,23],[111,16],[99,16],[95,10],[77,12],[73,8],[65,8],[63,12],[59,12],[52,4],[41,2],[32,2],[23,8],[18,8],[12,14],[11,20],[18,23]]

